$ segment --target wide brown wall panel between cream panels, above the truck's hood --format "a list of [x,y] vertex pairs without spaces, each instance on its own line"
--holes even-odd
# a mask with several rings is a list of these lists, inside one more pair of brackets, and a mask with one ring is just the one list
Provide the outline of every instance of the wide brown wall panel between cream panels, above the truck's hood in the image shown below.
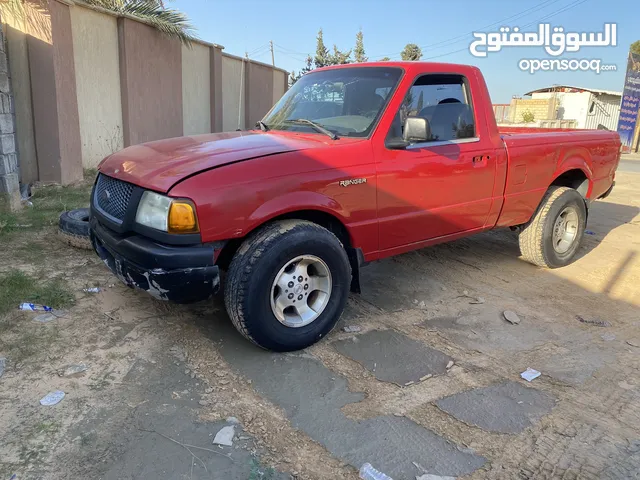
[[118,19],[124,144],[182,135],[182,47],[159,31]]

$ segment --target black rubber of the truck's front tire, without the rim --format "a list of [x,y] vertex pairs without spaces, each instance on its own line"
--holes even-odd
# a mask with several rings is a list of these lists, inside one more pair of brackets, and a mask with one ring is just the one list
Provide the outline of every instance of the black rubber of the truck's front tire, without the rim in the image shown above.
[[[328,303],[310,324],[289,327],[271,309],[271,287],[287,262],[313,255],[331,273]],[[351,282],[351,266],[342,244],[327,229],[304,220],[282,220],[250,235],[231,261],[224,300],[236,329],[256,345],[278,352],[300,350],[327,335],[342,315]]]

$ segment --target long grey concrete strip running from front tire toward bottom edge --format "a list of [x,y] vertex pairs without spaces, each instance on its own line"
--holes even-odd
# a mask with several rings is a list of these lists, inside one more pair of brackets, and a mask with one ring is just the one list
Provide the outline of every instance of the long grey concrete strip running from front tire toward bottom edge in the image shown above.
[[228,325],[219,327],[221,353],[232,368],[251,379],[260,395],[281,407],[293,427],[350,465],[360,468],[370,462],[402,480],[424,473],[413,462],[428,473],[451,476],[471,473],[485,463],[482,456],[408,418],[380,415],[356,421],[346,417],[341,408],[361,401],[364,395],[351,392],[342,375],[308,353],[265,352]]

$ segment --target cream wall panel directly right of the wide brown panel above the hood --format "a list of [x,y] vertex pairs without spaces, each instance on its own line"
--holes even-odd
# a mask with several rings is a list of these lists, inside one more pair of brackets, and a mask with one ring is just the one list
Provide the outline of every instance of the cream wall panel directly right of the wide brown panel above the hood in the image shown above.
[[182,128],[184,135],[211,132],[210,47],[182,46]]

